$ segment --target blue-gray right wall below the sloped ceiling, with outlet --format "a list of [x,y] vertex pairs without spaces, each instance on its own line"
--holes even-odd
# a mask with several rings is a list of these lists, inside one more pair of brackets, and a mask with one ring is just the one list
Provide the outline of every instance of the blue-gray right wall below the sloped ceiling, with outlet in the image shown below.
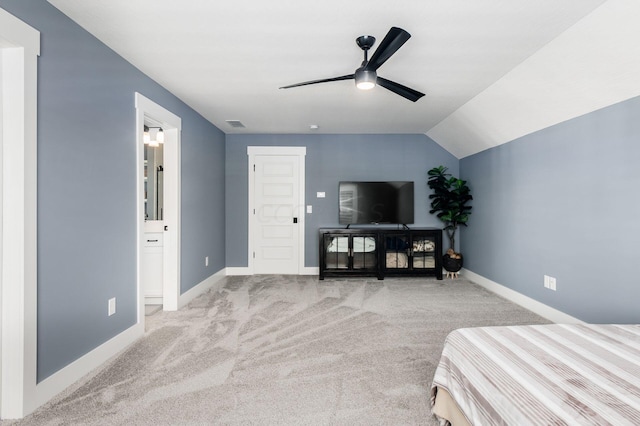
[[584,321],[640,322],[639,117],[635,98],[462,159],[465,267]]

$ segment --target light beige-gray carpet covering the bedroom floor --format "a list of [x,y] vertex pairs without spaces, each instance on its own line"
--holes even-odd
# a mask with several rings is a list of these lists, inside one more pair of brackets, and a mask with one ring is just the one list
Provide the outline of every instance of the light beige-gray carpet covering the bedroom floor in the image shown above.
[[[446,335],[548,322],[464,279],[224,278],[19,425],[436,425]],[[14,422],[12,422],[14,424]]]

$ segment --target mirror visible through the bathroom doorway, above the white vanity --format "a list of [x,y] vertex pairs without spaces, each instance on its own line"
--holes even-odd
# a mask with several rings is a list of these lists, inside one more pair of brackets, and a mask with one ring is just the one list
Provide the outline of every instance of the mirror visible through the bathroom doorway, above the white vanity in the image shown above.
[[144,220],[163,219],[163,146],[144,146]]

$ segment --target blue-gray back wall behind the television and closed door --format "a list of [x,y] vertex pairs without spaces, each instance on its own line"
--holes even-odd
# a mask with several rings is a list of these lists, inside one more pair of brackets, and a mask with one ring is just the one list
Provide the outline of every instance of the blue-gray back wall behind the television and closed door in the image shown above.
[[[445,165],[458,173],[458,160],[425,135],[227,135],[227,266],[248,266],[247,146],[307,148],[305,266],[318,266],[318,228],[338,225],[341,180],[407,180],[415,182],[413,227],[442,227],[429,214],[427,170]],[[326,198],[316,198],[318,191]]]

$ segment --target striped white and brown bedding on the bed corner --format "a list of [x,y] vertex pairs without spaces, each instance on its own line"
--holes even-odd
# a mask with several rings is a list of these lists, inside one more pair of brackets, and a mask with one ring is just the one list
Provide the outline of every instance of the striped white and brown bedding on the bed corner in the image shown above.
[[640,425],[640,325],[459,329],[438,388],[472,425]]

